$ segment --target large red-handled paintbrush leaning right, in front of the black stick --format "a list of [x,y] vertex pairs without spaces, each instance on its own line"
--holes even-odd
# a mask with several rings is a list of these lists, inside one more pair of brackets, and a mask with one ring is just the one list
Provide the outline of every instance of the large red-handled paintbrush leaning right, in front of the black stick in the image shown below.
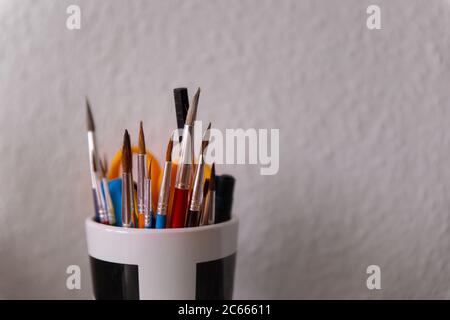
[[194,144],[192,141],[194,122],[197,117],[200,88],[195,93],[192,105],[189,107],[186,123],[183,129],[181,142],[180,161],[177,166],[177,177],[173,196],[172,228],[185,226],[186,212],[188,209],[189,189],[192,181],[192,164],[194,157]]

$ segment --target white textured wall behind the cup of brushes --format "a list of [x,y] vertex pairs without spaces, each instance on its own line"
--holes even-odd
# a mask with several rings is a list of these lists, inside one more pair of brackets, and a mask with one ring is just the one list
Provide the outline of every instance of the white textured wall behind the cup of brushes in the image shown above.
[[280,128],[278,175],[219,168],[238,179],[235,297],[450,298],[449,21],[443,0],[1,0],[0,296],[91,296],[84,96],[110,156],[140,119],[162,156],[172,88],[200,85],[215,127]]

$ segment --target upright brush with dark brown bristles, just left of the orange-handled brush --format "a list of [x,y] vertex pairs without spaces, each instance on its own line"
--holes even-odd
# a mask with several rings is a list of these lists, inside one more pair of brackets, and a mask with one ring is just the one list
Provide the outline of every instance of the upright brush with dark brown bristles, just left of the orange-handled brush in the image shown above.
[[122,226],[133,227],[134,186],[132,177],[132,153],[130,135],[125,130],[122,147]]

